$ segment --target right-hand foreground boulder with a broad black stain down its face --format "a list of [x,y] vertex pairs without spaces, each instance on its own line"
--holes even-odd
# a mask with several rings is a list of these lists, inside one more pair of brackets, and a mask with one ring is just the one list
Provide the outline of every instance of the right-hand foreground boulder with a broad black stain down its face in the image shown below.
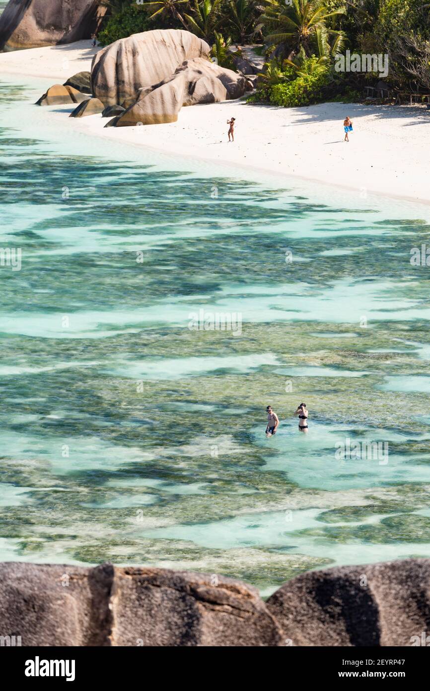
[[430,560],[309,571],[266,605],[289,645],[410,646],[430,626]]

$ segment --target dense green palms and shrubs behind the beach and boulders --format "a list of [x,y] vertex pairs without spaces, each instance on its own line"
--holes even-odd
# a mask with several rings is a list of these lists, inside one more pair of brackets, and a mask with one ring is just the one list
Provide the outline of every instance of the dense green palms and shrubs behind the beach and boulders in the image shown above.
[[[212,46],[219,65],[234,69],[235,44],[260,44],[254,52],[264,55],[266,64],[250,102],[306,106],[363,100],[364,87],[380,79],[388,84],[391,99],[430,93],[430,4],[422,0],[137,2],[102,2],[108,15],[101,45],[150,29],[184,28]],[[375,71],[338,71],[346,50],[379,55],[388,73],[375,61]]]

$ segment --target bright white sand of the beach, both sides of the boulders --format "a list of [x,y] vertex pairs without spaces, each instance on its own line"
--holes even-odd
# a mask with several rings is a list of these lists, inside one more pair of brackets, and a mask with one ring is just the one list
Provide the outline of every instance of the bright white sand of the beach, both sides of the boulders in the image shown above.
[[[0,73],[52,77],[52,83],[88,70],[94,50],[89,41],[0,55]],[[67,60],[66,77],[63,61]],[[63,79],[64,77],[64,79]],[[58,111],[58,108],[57,108]],[[46,117],[65,119],[50,111]],[[236,117],[235,142],[227,140],[226,120]],[[343,141],[345,115],[353,120],[350,142]],[[68,126],[181,157],[191,157],[300,176],[380,194],[430,202],[430,110],[425,106],[322,104],[276,108],[229,101],[182,108],[175,123],[104,129],[99,115],[68,120]]]

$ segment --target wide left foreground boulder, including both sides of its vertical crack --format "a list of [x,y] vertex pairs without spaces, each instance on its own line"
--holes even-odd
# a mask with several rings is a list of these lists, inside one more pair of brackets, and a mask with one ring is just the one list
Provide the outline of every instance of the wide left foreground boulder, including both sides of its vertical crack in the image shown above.
[[1,564],[0,630],[23,646],[281,643],[257,590],[239,580],[112,565]]

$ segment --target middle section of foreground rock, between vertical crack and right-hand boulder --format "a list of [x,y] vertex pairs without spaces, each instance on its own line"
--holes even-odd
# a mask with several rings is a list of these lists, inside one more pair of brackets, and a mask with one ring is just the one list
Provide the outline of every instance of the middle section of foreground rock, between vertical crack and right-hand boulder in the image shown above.
[[[277,646],[280,628],[240,580],[167,569],[115,569],[114,645]],[[114,600],[115,602],[115,600]]]

